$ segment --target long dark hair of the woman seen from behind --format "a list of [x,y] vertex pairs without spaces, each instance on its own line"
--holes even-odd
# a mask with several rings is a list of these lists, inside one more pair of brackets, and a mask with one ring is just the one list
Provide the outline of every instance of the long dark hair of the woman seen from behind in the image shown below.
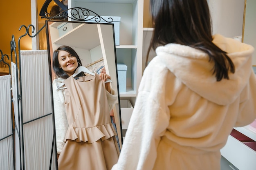
[[154,31],[146,61],[150,49],[176,43],[207,53],[209,62],[214,62],[213,74],[217,81],[229,79],[229,71],[235,72],[235,66],[227,53],[212,42],[207,0],[150,0],[150,11]]

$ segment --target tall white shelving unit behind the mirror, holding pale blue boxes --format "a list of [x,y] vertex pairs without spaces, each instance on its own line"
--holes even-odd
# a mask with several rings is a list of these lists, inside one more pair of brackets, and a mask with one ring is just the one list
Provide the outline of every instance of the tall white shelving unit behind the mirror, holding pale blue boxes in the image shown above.
[[142,76],[143,0],[69,0],[69,8],[82,7],[100,16],[119,16],[120,45],[116,46],[117,63],[127,65],[126,92],[134,104]]

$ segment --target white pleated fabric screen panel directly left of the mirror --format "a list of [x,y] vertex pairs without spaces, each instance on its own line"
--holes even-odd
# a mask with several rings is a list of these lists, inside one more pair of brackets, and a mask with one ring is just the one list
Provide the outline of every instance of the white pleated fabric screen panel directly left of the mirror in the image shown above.
[[[55,159],[50,165],[53,124],[47,50],[20,51],[20,76],[20,141],[23,135],[24,158],[22,149],[21,154],[18,150],[22,148],[22,142],[16,141],[16,155],[20,154],[24,159],[25,170],[48,170],[50,166],[55,169]],[[17,105],[15,110],[18,112]],[[15,115],[17,119],[18,113]]]

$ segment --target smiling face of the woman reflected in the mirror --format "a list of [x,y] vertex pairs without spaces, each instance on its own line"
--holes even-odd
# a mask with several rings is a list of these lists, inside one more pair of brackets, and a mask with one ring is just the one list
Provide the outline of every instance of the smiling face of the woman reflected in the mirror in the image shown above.
[[73,75],[78,67],[76,57],[63,50],[58,52],[58,63],[60,64],[60,68],[62,68],[68,76]]

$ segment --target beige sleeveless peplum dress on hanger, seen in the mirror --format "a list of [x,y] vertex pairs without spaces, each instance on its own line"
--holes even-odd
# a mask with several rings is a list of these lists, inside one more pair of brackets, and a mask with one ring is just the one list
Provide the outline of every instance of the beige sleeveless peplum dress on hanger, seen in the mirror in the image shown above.
[[117,163],[119,149],[104,82],[95,74],[70,76],[64,84],[69,127],[58,169],[110,170]]

